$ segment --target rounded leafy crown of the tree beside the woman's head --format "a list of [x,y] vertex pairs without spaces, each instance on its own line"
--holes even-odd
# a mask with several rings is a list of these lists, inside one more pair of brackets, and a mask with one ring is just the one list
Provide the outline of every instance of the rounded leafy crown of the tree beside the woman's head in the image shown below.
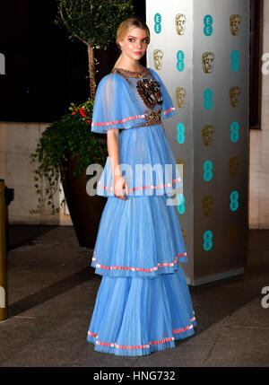
[[134,11],[132,0],[56,0],[55,23],[65,26],[69,39],[77,38],[94,48],[108,48],[116,41],[120,22]]

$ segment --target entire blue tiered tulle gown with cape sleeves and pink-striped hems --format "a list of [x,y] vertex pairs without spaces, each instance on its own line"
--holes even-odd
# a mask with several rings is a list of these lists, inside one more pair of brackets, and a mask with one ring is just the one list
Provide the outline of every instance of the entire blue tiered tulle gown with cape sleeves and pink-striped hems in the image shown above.
[[175,108],[152,68],[113,68],[97,88],[91,130],[119,129],[119,162],[129,189],[115,197],[108,157],[97,194],[108,197],[91,267],[102,276],[87,341],[117,355],[146,355],[175,347],[195,333],[187,262],[170,194],[182,186],[161,119]]

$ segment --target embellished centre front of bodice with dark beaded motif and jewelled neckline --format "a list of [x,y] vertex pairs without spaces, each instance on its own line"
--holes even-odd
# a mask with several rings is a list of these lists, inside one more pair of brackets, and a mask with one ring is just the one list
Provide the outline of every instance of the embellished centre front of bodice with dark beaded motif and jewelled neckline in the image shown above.
[[[126,82],[136,96],[136,101],[140,104],[141,109],[143,109],[146,126],[161,124],[161,109],[163,104],[160,90],[161,83],[155,80],[151,71],[145,67],[137,72],[114,67],[111,74],[119,74],[126,79]],[[141,126],[145,126],[145,124],[136,125],[136,127]]]

